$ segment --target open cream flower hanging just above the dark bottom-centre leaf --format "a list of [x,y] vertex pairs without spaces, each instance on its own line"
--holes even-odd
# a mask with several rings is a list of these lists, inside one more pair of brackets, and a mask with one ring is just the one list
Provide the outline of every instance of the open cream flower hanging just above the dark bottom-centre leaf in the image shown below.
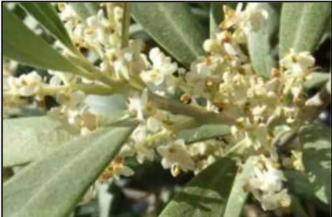
[[183,171],[194,170],[195,162],[186,150],[183,140],[169,143],[167,146],[159,146],[157,152],[163,157],[162,167],[167,169],[176,164]]

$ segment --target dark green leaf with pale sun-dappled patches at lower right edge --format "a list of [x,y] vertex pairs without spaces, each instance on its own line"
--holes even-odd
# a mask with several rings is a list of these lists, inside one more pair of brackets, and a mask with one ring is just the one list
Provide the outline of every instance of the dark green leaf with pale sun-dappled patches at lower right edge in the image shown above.
[[[300,131],[305,172],[285,170],[288,187],[322,208],[331,204],[331,134],[328,127],[310,125]],[[326,206],[328,205],[328,206]]]

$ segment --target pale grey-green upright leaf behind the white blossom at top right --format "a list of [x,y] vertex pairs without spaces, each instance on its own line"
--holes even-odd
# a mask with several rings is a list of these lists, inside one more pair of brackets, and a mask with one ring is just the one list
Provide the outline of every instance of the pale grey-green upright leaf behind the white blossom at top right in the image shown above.
[[[247,7],[251,4],[256,3],[249,3]],[[276,66],[276,61],[271,53],[273,48],[271,39],[277,33],[279,16],[270,3],[258,3],[257,9],[266,10],[269,17],[263,21],[259,31],[251,31],[248,35],[248,50],[256,74],[269,77],[271,69]]]

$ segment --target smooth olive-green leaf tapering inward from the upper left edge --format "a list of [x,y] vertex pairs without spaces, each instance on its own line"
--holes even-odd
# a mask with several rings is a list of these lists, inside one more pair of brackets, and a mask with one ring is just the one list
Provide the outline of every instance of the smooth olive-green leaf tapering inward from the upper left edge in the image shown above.
[[3,8],[3,52],[10,59],[35,67],[64,72],[79,70],[48,43],[34,35],[6,7]]

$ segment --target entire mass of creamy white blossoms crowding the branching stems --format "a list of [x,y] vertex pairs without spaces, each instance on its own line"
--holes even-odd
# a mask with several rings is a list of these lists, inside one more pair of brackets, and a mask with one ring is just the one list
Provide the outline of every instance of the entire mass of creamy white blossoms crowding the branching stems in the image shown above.
[[[96,74],[86,77],[50,70],[52,78],[46,84],[32,72],[10,77],[10,92],[22,96],[54,95],[60,106],[52,108],[50,116],[70,132],[81,134],[102,127],[98,116],[89,111],[84,101],[86,94],[107,95],[118,91],[127,95],[128,114],[136,117],[139,125],[101,175],[101,181],[133,175],[134,171],[125,164],[127,157],[135,157],[143,164],[159,156],[162,167],[170,169],[173,176],[182,171],[197,174],[241,145],[244,151],[236,153],[242,159],[239,164],[250,156],[256,160],[254,173],[244,185],[246,191],[266,210],[287,207],[290,196],[282,188],[286,178],[280,170],[273,143],[275,126],[271,123],[278,118],[279,125],[295,130],[302,124],[297,116],[305,101],[303,82],[310,79],[315,59],[308,52],[291,50],[280,60],[279,68],[271,69],[269,79],[255,74],[240,46],[268,18],[266,11],[255,6],[250,4],[245,10],[242,4],[236,10],[225,6],[220,31],[203,44],[207,56],[198,58],[186,70],[179,68],[159,48],[152,48],[145,55],[144,43],[140,40],[130,40],[128,47],[121,46],[124,19],[121,4],[111,3],[106,10],[107,17],[102,8],[96,16],[84,21],[69,5],[61,3],[59,16],[75,46],[87,49],[100,60],[97,66],[83,62]],[[62,47],[64,56],[82,63],[75,53],[60,43],[57,46]],[[174,138],[176,114],[154,106],[149,99],[150,92],[166,98],[180,93],[180,101],[188,107],[227,116],[232,120],[229,137],[191,144]],[[165,138],[167,142],[162,142]],[[287,165],[297,165],[293,168],[298,169],[300,157],[294,156],[288,159]]]

